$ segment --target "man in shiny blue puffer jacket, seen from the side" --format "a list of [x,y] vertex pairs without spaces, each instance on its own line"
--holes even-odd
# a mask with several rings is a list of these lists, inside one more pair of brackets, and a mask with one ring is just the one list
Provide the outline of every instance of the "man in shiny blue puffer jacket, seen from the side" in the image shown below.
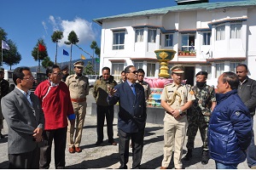
[[217,105],[209,122],[208,146],[217,169],[236,169],[246,160],[252,139],[250,111],[237,94],[239,79],[233,72],[218,77]]

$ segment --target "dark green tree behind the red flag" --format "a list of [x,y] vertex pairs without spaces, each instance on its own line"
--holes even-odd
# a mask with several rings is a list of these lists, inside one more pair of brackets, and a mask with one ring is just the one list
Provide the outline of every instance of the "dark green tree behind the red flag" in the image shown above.
[[39,38],[38,39],[38,42],[36,44],[36,46],[33,48],[32,50],[32,57],[37,61],[38,60],[38,72],[40,72],[40,61],[43,60],[45,57],[48,56],[48,53],[47,53],[47,48],[45,48],[44,51],[39,51],[38,48],[39,48],[39,43],[41,45],[43,45],[44,47],[45,46],[45,43],[44,43],[44,40],[42,38]]

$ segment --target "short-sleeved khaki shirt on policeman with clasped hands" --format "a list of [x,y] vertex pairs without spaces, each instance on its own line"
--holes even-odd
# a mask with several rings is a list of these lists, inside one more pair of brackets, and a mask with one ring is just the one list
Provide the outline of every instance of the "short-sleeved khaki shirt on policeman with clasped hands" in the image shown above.
[[165,86],[160,99],[165,100],[172,109],[178,110],[189,100],[194,100],[195,96],[188,85],[181,84],[177,86],[175,83],[171,83]]

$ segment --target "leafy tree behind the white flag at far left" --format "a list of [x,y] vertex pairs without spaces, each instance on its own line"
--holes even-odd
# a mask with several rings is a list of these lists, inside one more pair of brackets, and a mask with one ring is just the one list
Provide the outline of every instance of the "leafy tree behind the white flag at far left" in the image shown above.
[[9,70],[12,70],[12,65],[20,63],[21,55],[17,50],[15,42],[8,40],[9,51],[3,50],[3,63],[9,65]]

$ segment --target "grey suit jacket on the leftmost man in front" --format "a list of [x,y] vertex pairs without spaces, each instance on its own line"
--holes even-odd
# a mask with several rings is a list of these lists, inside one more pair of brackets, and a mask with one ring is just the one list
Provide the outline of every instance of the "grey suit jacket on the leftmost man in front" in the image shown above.
[[32,105],[15,88],[1,100],[3,116],[8,124],[8,152],[21,154],[34,150],[38,143],[32,137],[37,127],[44,128],[44,113],[38,97],[30,94]]

